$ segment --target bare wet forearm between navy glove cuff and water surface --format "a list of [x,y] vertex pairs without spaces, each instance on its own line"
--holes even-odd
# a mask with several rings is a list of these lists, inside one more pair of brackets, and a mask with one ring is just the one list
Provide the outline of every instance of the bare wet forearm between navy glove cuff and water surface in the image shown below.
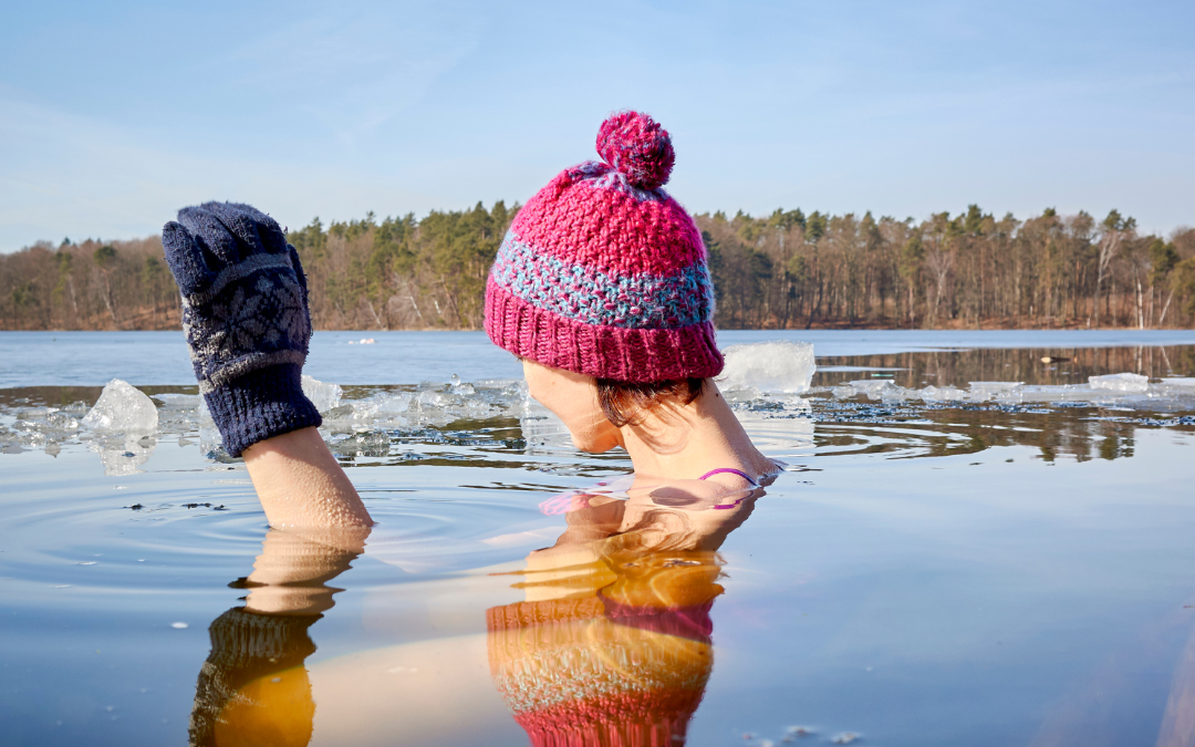
[[245,466],[272,527],[368,527],[369,512],[314,428],[259,441]]

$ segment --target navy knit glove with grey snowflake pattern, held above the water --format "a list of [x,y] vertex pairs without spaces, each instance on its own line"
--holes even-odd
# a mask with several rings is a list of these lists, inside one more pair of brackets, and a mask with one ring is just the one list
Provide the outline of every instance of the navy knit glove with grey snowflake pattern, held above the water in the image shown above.
[[278,224],[247,204],[207,202],[179,210],[161,243],[200,391],[228,453],[319,425],[300,384],[307,278]]

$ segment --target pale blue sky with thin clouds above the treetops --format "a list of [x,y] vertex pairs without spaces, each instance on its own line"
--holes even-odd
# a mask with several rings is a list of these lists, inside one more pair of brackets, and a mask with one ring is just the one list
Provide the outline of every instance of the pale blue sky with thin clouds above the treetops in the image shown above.
[[0,251],[526,201],[611,111],[694,212],[1195,225],[1195,4],[55,2],[0,24]]

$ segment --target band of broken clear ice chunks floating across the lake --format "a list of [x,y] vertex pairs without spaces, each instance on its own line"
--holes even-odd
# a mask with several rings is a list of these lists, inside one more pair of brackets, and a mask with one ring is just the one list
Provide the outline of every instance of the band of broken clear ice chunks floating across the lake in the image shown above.
[[[820,375],[839,382],[815,386],[819,371],[813,344],[795,339],[739,344],[725,349],[727,365],[717,378],[718,385],[740,420],[778,457],[804,453],[814,441],[815,422],[833,420],[836,414],[860,406],[864,402],[878,402],[883,408],[899,406],[902,411],[975,405],[1041,408],[1089,404],[1158,412],[1195,408],[1195,378],[1151,380],[1130,372],[1093,375],[1085,384],[1025,384],[999,380],[1001,368],[993,367],[982,373],[968,372],[980,373],[970,375],[972,379],[985,375],[989,379],[968,381],[962,372],[939,372],[939,378],[923,381],[925,385],[921,387],[912,387],[894,381],[901,375],[899,372],[906,369],[894,368],[893,365],[899,366],[899,362],[891,361],[880,362],[880,368],[875,365],[831,365]],[[842,376],[835,375],[869,375],[865,372],[871,372],[870,378],[841,381]],[[1013,375],[1025,373],[1021,371]],[[961,380],[951,380],[956,376]],[[908,384],[909,379],[905,375],[902,382]],[[501,437],[516,439],[521,442],[521,451],[528,455],[574,451],[563,423],[529,398],[521,380],[470,381],[451,375],[418,385],[345,387],[305,375],[302,387],[323,415],[320,434],[333,453],[347,459],[415,458],[417,453],[404,446],[412,439],[435,431],[467,433],[479,427],[492,430],[517,428],[517,431]],[[163,437],[177,436],[179,446],[197,441],[201,453],[217,465],[235,461],[221,448],[220,434],[204,398],[197,393],[154,393],[151,399],[136,387],[114,380],[90,412],[85,403],[76,402],[62,408],[25,408],[14,415],[7,428],[0,423],[0,448],[13,453],[43,449],[56,455],[60,445],[86,442],[90,451],[99,454],[108,474],[141,471],[157,441]],[[503,424],[503,420],[508,420],[509,424]],[[155,435],[157,441],[143,437],[149,435]],[[474,439],[472,435],[446,437]]]

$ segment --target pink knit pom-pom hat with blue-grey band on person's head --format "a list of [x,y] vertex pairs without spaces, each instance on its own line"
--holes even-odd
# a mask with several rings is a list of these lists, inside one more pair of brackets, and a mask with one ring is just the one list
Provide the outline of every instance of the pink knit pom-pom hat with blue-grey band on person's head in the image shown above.
[[713,284],[701,234],[663,190],[675,153],[624,111],[510,225],[485,288],[485,331],[517,356],[619,381],[712,376]]

